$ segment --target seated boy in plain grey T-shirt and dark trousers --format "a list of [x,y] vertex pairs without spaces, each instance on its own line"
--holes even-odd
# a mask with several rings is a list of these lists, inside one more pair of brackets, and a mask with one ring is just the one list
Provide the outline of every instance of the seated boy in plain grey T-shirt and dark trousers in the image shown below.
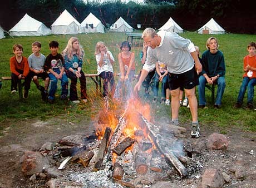
[[[29,75],[33,78],[33,82],[35,83],[38,90],[41,91],[42,100],[47,100],[47,89],[49,85],[50,78],[48,74],[43,70],[43,66],[45,65],[45,56],[40,53],[41,43],[33,42],[32,43],[32,54],[28,57],[28,65],[30,73]],[[38,77],[43,78],[45,81],[45,87],[39,85]]]

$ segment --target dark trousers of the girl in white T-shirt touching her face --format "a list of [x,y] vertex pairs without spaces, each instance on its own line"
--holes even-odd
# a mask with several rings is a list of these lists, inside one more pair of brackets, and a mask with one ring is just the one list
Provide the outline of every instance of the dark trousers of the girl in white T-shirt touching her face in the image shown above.
[[109,96],[109,83],[111,93],[115,92],[115,79],[112,72],[101,72],[100,77],[103,79],[103,97]]

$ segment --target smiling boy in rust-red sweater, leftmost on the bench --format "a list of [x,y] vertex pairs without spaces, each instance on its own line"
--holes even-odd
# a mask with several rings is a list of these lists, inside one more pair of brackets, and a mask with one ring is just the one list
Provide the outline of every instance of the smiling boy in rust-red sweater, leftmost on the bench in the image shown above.
[[24,93],[23,97],[28,97],[28,90],[30,88],[31,77],[28,76],[29,67],[28,60],[23,57],[23,47],[21,44],[13,45],[14,56],[10,58],[10,69],[12,72],[12,83],[11,83],[11,93],[16,93],[18,80],[24,79]]

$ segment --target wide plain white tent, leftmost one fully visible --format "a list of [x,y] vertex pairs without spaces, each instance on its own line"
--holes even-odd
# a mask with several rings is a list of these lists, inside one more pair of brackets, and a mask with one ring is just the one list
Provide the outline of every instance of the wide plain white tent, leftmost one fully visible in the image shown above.
[[9,30],[11,36],[42,36],[51,34],[51,29],[35,18],[25,14],[23,18]]

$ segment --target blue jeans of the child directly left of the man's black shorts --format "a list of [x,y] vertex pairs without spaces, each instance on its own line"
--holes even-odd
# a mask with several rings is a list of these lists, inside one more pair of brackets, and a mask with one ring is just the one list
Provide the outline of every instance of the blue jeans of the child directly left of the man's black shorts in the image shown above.
[[[162,73],[162,75],[164,75],[164,73]],[[157,72],[155,72],[155,76],[154,76],[154,85],[153,85],[153,93],[154,93],[154,97],[158,97],[158,91],[159,91],[159,75],[157,74]],[[162,80],[162,88],[161,88],[161,97],[165,98],[166,97],[166,88],[168,85],[168,76],[164,76],[163,80]]]

